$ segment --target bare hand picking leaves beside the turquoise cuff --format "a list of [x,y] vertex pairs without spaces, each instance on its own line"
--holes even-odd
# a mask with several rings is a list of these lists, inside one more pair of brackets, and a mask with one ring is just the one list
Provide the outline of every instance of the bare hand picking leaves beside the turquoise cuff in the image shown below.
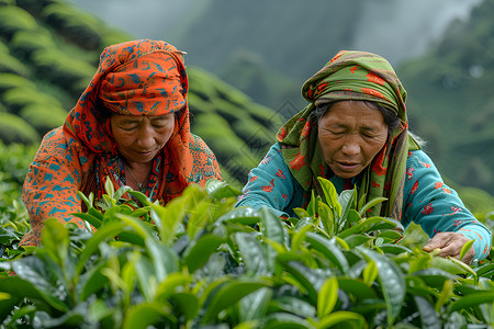
[[[431,238],[427,245],[422,248],[422,250],[430,252],[435,249],[440,249],[438,256],[440,257],[453,257],[456,259],[460,259],[460,252],[461,248],[464,243],[470,241],[470,239],[465,238],[461,234],[453,232],[453,231],[444,231],[438,232],[437,235]],[[463,257],[461,261],[463,261],[465,264],[471,264],[473,258],[475,257],[475,250],[470,248],[470,250],[467,252],[467,254]]]

